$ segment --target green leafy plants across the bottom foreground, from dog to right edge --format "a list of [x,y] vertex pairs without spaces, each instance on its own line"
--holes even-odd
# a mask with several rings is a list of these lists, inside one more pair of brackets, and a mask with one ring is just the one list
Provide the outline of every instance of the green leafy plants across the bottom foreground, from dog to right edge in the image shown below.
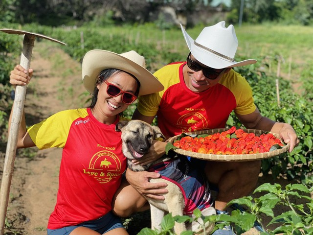
[[[263,193],[263,195],[259,197],[246,196],[228,203],[228,206],[237,204],[237,208],[240,206],[244,210],[233,210],[231,214],[202,216],[201,211],[196,209],[193,211],[194,218],[185,215],[172,216],[169,213],[162,219],[160,230],[144,228],[138,235],[174,235],[175,221],[179,223],[192,222],[200,217],[203,218],[201,226],[204,226],[207,221],[215,222],[213,232],[231,224],[234,232],[240,235],[249,231],[257,221],[264,231],[261,232],[261,235],[313,234],[313,198],[310,196],[313,193],[312,188],[301,184],[289,184],[283,189],[279,184],[266,183],[256,188],[253,194],[256,193]],[[294,203],[294,201],[299,202],[299,200],[303,203]],[[274,208],[277,206],[284,206],[286,210],[280,214],[275,214]],[[268,225],[277,225],[274,230],[266,229],[266,225],[263,223],[264,216],[271,218]],[[180,235],[193,235],[193,232],[185,231]]]

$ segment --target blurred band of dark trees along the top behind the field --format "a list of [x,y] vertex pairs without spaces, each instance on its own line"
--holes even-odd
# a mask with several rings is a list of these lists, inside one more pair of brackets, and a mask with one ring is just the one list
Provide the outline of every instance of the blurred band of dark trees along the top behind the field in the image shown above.
[[[142,24],[158,22],[167,28],[178,24],[167,17],[172,9],[175,17],[186,19],[186,26],[216,22],[215,12],[227,12],[220,18],[237,24],[241,3],[242,22],[259,24],[313,24],[313,0],[232,0],[231,10],[211,7],[213,0],[1,0],[1,23],[39,23],[43,25],[77,25],[94,22],[107,24]],[[214,1],[216,2],[216,1]],[[221,1],[223,2],[223,1]]]

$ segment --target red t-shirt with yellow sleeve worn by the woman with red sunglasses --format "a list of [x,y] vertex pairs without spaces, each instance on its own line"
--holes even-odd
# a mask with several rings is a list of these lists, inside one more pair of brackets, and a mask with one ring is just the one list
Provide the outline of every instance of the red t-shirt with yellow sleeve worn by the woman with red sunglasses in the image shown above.
[[48,229],[97,219],[111,211],[126,158],[115,123],[96,120],[89,108],[59,112],[31,126],[28,133],[39,149],[63,148],[59,190]]

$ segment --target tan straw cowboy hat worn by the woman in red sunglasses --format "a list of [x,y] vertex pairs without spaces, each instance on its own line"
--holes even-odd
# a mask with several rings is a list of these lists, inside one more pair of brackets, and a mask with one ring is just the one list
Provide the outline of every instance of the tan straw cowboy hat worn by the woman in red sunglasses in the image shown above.
[[82,63],[83,84],[92,94],[98,75],[106,69],[118,69],[129,72],[140,82],[139,95],[160,92],[163,85],[148,70],[145,69],[145,58],[134,50],[117,54],[107,50],[90,50]]

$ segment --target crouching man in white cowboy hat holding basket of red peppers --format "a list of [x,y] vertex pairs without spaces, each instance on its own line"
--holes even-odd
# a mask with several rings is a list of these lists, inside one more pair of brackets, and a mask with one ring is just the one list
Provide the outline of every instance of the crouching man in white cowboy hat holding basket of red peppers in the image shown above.
[[[169,64],[155,72],[165,89],[139,98],[133,119],[152,123],[157,116],[158,126],[166,138],[182,132],[224,128],[232,111],[246,128],[271,131],[290,142],[290,151],[298,138],[287,123],[263,117],[254,104],[246,79],[232,68],[256,63],[256,60],[236,62],[238,41],[234,26],[225,22],[205,27],[193,40],[181,26],[190,50],[186,62]],[[137,164],[147,164],[165,153],[166,142],[156,141],[150,153]],[[248,195],[256,186],[261,161],[212,162],[203,161],[209,182],[218,187],[215,201],[217,213],[226,212],[226,204]],[[148,182],[146,173],[127,171],[130,184],[142,194],[162,199],[164,189]],[[146,174],[146,175],[144,175]],[[153,177],[156,177],[154,175]],[[137,180],[138,179],[138,180]],[[144,181],[140,181],[145,179]],[[144,188],[142,187],[144,185]],[[223,233],[216,233],[223,234]],[[229,234],[229,233],[224,233]]]

